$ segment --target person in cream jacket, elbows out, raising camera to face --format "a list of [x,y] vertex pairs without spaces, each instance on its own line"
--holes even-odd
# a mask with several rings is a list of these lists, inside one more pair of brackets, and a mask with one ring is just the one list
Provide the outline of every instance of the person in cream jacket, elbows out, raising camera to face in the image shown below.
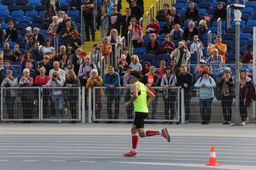
[[178,48],[172,52],[172,56],[177,61],[177,66],[180,67],[182,64],[186,64],[186,59],[190,58],[190,52],[188,51],[183,41],[179,42]]

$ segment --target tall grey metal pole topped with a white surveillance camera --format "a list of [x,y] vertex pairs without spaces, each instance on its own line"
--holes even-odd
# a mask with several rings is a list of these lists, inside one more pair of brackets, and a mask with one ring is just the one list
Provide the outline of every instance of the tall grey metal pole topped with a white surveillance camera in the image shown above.
[[235,78],[235,87],[236,87],[236,102],[235,102],[235,113],[236,113],[236,126],[239,125],[239,61],[240,61],[240,57],[239,57],[239,39],[240,39],[240,21],[241,21],[241,16],[242,13],[240,11],[240,9],[243,9],[245,7],[245,5],[239,5],[239,4],[231,4],[231,8],[235,9],[234,10],[234,15],[235,15],[235,24],[236,24],[236,78]]

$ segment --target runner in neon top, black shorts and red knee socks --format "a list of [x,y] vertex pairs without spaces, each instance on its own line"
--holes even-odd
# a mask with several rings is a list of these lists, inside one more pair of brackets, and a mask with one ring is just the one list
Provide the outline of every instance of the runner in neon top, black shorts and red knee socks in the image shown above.
[[[134,104],[134,110],[135,110],[135,118],[132,125],[132,143],[133,148],[130,152],[124,153],[123,156],[125,157],[137,157],[137,144],[139,140],[138,133],[140,137],[148,137],[148,136],[154,136],[154,135],[162,135],[167,139],[168,142],[170,142],[170,136],[167,132],[167,129],[164,128],[161,131],[153,131],[153,130],[147,130],[144,131],[144,119],[147,117],[149,111],[148,111],[148,105],[154,100],[155,95],[149,91],[149,89],[141,82],[139,82],[141,78],[141,72],[139,70],[132,70],[131,71],[131,81],[134,83],[131,87],[131,96],[129,102],[125,103],[125,107],[130,106],[132,103]],[[149,96],[149,99],[147,101],[147,95]]]

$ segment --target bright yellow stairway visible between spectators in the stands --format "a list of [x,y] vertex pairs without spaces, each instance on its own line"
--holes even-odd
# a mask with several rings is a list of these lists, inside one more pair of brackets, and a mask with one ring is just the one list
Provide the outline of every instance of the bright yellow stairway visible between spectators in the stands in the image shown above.
[[[143,18],[144,18],[144,35],[145,35],[145,31],[146,31],[146,24],[145,24],[145,16],[146,16],[146,12],[150,12],[150,7],[151,5],[153,4],[154,5],[154,10],[155,10],[155,16],[156,17],[156,0],[147,0],[147,2],[145,2],[146,0],[144,0],[144,15],[143,15]],[[121,9],[121,14],[122,15],[125,15],[125,8],[128,8],[129,7],[129,4],[125,2],[125,0],[122,1],[122,9]],[[89,29],[89,31],[91,31]],[[85,35],[84,35],[85,36]],[[120,35],[121,36],[121,35]],[[86,37],[86,36],[85,36]],[[90,42],[84,42],[84,45],[83,45],[83,51],[86,52],[86,54],[88,55],[89,52],[92,51],[92,48],[93,48],[93,45],[95,43],[99,43],[100,41],[100,33],[99,31],[96,31],[95,32],[95,40],[96,42],[92,42],[92,39],[91,39],[91,36],[90,36]]]

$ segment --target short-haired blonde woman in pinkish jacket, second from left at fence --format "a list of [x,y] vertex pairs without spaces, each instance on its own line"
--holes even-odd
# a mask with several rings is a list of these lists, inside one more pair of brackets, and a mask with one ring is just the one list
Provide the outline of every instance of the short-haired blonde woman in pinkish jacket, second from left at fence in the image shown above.
[[[33,78],[29,77],[29,69],[25,68],[23,70],[23,75],[19,81],[18,87],[32,87],[33,86]],[[23,119],[31,119],[33,115],[33,101],[35,99],[34,96],[35,89],[22,89],[18,92],[18,95],[21,99],[21,104],[23,108]],[[30,120],[25,120],[22,123],[31,123]]]

